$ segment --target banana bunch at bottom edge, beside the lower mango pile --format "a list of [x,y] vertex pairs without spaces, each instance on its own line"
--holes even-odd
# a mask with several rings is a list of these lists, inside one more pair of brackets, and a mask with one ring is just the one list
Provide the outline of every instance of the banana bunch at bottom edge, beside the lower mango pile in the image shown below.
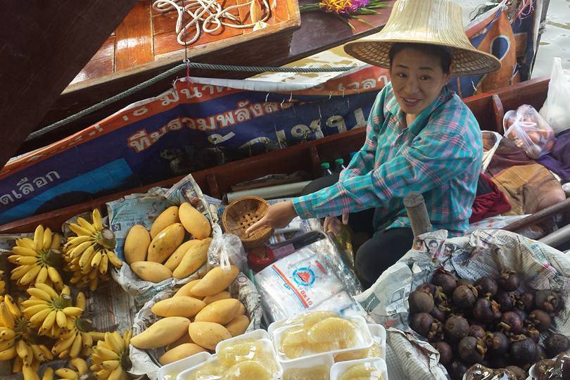
[[125,380],[132,367],[129,360],[129,343],[132,331],[125,331],[122,337],[117,331],[106,332],[105,339],[97,342],[91,353],[91,371],[98,380]]

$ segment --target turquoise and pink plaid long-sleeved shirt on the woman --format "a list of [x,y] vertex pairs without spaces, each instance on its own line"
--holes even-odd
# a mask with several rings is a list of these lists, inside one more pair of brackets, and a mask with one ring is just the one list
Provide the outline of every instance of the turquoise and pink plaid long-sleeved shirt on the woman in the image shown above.
[[410,227],[403,197],[424,196],[433,229],[463,234],[481,169],[481,129],[448,87],[410,127],[388,84],[376,97],[366,141],[338,182],[293,199],[303,219],[376,208],[374,228]]

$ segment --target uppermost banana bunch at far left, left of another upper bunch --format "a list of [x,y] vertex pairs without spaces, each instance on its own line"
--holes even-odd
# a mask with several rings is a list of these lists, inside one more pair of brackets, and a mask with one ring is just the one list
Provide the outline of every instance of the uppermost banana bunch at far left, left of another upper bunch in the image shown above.
[[34,232],[34,239],[16,239],[12,248],[13,255],[8,261],[16,267],[12,270],[11,279],[18,280],[19,285],[27,286],[35,282],[49,283],[61,290],[63,281],[57,267],[63,264],[60,251],[61,236],[53,234],[49,228],[40,224]]

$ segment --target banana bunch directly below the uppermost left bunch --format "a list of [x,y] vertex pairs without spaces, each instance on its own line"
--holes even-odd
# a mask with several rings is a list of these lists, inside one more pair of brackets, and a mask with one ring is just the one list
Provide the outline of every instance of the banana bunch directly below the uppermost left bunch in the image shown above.
[[82,308],[72,305],[67,285],[61,293],[42,283],[26,291],[30,298],[22,303],[23,314],[30,321],[30,327],[38,329],[39,335],[58,338],[68,332],[68,323],[73,317],[82,315]]

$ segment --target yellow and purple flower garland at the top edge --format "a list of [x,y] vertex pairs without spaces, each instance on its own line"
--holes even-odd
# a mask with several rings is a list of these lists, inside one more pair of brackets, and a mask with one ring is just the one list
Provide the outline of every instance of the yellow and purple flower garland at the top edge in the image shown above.
[[[334,13],[355,30],[355,27],[350,24],[350,19],[370,25],[358,17],[358,15],[378,15],[380,13],[376,9],[386,7],[388,7],[388,4],[383,0],[322,0],[319,3],[305,4],[300,6],[299,9],[301,12],[322,10],[327,13]],[[346,18],[349,20],[346,20]]]

